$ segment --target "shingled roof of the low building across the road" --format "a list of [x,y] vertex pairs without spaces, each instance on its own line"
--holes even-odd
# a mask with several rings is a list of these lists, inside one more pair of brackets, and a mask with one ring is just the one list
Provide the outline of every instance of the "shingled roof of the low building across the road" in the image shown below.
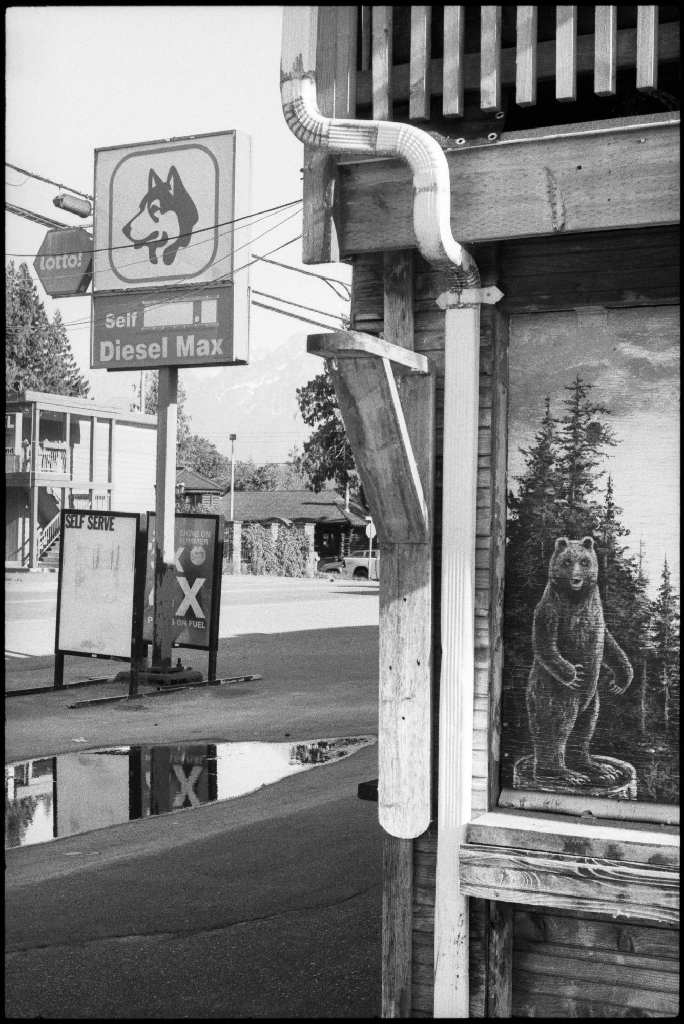
[[[221,512],[230,514],[230,496],[221,499]],[[360,505],[349,502],[334,490],[236,490],[233,517],[238,521],[267,522],[290,519],[292,522],[344,523],[366,526],[366,512]]]

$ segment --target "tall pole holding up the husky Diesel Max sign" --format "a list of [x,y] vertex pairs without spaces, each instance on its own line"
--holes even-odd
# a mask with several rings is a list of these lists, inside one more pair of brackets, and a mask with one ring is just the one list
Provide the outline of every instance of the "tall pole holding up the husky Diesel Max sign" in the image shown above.
[[178,367],[160,367],[155,502],[155,622],[152,646],[152,664],[156,669],[171,668],[177,420]]

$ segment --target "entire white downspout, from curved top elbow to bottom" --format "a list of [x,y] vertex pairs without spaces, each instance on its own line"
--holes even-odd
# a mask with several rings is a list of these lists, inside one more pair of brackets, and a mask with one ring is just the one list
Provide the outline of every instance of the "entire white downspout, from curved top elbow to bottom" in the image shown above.
[[439,144],[413,125],[320,114],[316,29],[316,7],[284,7],[281,96],[290,129],[316,150],[405,161],[414,179],[418,249],[434,267],[452,271],[456,288],[439,301],[445,309],[445,382],[434,1016],[465,1018],[469,901],[460,891],[459,847],[472,791],[479,307],[502,295],[479,287],[475,261],[452,234],[451,178]]

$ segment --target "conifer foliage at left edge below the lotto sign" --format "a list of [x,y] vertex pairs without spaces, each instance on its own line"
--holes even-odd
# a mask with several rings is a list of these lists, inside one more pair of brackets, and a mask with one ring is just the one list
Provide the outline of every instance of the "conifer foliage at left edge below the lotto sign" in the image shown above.
[[57,309],[52,323],[29,267],[5,267],[5,383],[27,389],[85,398],[89,385],[81,374]]

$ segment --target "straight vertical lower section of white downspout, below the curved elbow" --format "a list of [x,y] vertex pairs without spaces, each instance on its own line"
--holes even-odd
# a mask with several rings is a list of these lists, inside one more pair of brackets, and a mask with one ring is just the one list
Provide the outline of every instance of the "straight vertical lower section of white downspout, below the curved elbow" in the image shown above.
[[435,1017],[469,1015],[469,906],[459,882],[459,848],[472,799],[479,324],[480,303],[501,297],[488,288],[437,299],[446,316]]

